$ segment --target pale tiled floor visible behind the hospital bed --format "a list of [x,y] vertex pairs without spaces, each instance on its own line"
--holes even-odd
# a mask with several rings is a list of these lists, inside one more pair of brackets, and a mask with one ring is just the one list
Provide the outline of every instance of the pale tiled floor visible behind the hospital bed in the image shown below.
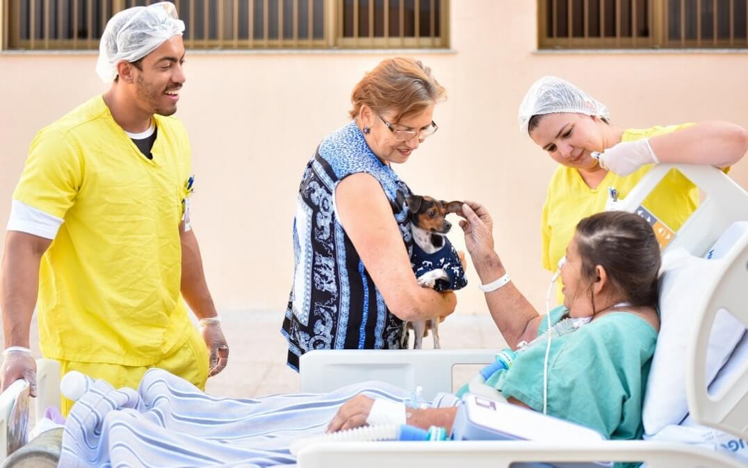
[[[298,374],[286,366],[286,341],[280,332],[283,312],[224,312],[221,316],[230,348],[229,364],[209,379],[207,392],[236,398],[298,392]],[[453,315],[441,324],[439,336],[443,349],[500,349],[506,345],[488,314]],[[35,319],[31,343],[34,356],[39,357]],[[424,348],[431,347],[431,338],[424,339]],[[476,366],[455,369],[456,386],[474,372]]]

